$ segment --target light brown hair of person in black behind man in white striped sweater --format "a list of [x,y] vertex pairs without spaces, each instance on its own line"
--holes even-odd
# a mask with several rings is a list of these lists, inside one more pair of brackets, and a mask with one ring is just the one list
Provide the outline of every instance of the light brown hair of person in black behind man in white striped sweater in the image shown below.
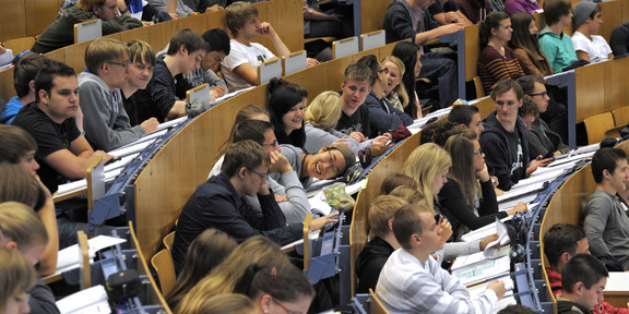
[[368,213],[371,239],[389,234],[389,219],[404,205],[408,205],[408,202],[397,196],[380,195],[373,200]]

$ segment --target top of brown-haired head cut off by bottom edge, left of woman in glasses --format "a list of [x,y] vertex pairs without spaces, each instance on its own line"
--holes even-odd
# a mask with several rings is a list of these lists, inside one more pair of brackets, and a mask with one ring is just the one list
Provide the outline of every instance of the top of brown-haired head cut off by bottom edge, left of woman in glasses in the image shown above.
[[[207,299],[192,300],[190,312],[176,312],[186,314],[257,314],[256,307],[247,295],[238,293],[225,293]],[[174,309],[170,306],[170,309]]]

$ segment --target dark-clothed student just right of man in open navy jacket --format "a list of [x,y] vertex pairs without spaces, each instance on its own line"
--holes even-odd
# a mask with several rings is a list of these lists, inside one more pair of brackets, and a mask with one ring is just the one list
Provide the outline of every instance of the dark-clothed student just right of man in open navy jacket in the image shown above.
[[539,107],[537,107],[537,104],[529,96],[524,96],[522,100],[522,107],[518,109],[518,116],[522,118],[526,126],[530,158],[533,159],[539,155],[554,157],[570,152],[570,147],[561,142],[561,136],[550,131],[546,122],[539,119]]

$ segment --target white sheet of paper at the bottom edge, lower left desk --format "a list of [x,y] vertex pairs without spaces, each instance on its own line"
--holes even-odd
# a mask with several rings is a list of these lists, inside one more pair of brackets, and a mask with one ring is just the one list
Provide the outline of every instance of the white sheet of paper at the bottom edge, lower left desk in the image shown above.
[[98,285],[57,301],[57,307],[61,314],[108,314],[111,307],[107,300],[105,287]]

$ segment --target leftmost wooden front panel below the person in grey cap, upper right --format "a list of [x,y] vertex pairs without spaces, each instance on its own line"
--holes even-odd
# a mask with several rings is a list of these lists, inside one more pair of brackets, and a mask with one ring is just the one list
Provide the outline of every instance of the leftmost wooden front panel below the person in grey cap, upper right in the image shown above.
[[577,123],[583,119],[603,112],[605,106],[605,63],[593,64],[574,70],[577,86]]

